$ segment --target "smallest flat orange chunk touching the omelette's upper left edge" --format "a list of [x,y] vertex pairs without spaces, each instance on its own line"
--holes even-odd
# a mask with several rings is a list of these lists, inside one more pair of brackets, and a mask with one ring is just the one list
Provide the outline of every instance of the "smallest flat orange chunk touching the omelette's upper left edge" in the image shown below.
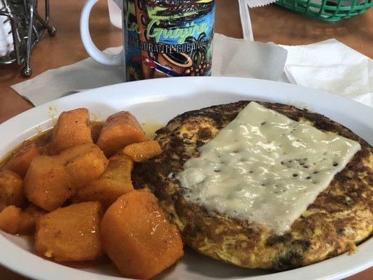
[[162,153],[162,148],[155,140],[149,140],[141,143],[135,143],[126,146],[123,153],[128,155],[135,162],[146,162]]

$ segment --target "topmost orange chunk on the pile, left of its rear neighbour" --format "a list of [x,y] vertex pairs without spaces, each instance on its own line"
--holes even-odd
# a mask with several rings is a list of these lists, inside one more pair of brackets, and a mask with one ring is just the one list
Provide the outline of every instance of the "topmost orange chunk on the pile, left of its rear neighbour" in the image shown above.
[[90,113],[85,108],[62,112],[48,146],[48,155],[85,143],[93,143],[90,129]]

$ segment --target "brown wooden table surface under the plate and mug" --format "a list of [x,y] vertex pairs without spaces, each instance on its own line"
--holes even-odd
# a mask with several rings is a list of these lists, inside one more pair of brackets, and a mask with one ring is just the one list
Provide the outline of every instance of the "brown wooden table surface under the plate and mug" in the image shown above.
[[[72,64],[87,57],[78,30],[82,0],[51,1],[51,23],[57,27],[53,38],[43,35],[31,55],[33,77],[48,69]],[[216,32],[241,38],[241,23],[237,0],[216,0]],[[356,18],[342,22],[319,22],[291,13],[275,5],[250,10],[255,41],[301,45],[337,38],[342,43],[373,57],[373,9]],[[94,43],[100,49],[121,44],[120,29],[110,25],[106,1],[94,6],[90,30]],[[10,85],[19,83],[20,66],[0,66],[0,123],[32,108],[27,100],[14,92]],[[0,279],[26,278],[0,267]],[[373,267],[350,276],[349,280],[373,279]]]

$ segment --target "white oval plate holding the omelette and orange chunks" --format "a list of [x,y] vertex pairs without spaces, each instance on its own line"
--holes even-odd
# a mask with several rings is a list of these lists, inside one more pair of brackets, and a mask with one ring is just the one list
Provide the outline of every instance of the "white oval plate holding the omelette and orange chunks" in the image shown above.
[[[178,113],[213,104],[253,99],[280,102],[322,113],[373,144],[373,109],[368,106],[307,87],[246,78],[167,78],[122,83],[87,90],[21,113],[0,125],[0,157],[24,139],[53,125],[54,116],[85,107],[91,119],[106,119],[111,113],[129,110],[141,123],[167,123]],[[286,272],[241,269],[218,262],[185,248],[175,267],[156,279],[342,279],[373,265],[373,240],[358,246],[357,253],[344,254],[314,265]],[[1,232],[0,263],[13,271],[40,280],[122,279],[113,265],[67,267],[35,255],[32,244],[22,237]]]

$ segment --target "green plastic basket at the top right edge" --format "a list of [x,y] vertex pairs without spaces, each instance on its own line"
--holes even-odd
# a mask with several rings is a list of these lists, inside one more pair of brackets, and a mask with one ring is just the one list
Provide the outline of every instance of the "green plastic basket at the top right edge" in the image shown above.
[[316,20],[336,22],[365,13],[372,0],[277,0],[276,4]]

